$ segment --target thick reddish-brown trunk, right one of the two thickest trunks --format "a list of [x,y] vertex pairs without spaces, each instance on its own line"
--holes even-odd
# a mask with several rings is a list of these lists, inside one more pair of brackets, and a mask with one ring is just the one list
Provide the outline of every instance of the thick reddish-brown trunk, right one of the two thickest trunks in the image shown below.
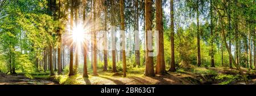
[[166,73],[166,66],[164,63],[164,40],[163,40],[163,9],[162,0],[156,1],[156,30],[159,32],[158,55],[156,56],[155,74],[164,75]]

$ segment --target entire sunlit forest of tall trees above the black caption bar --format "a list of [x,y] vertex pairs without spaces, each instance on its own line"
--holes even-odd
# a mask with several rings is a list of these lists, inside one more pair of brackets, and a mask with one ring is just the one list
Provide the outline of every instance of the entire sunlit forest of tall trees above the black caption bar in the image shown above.
[[0,0],[0,85],[255,85],[255,0]]

